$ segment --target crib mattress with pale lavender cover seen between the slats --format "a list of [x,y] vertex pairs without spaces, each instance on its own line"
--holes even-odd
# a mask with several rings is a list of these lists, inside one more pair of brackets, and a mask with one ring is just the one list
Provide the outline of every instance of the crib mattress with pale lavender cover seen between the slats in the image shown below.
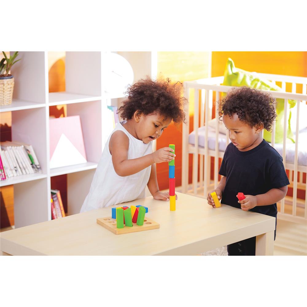
[[[208,149],[215,150],[215,129],[208,127]],[[226,140],[228,136],[219,133],[219,151],[224,152],[226,150]],[[294,136],[295,138],[295,136]],[[302,129],[298,138],[298,165],[307,165],[307,128]],[[195,145],[195,131],[189,134],[189,144]],[[270,144],[270,143],[269,143]],[[205,147],[205,126],[198,129],[198,146]],[[282,144],[275,144],[274,148],[282,156]],[[294,164],[295,144],[286,144],[286,162]]]

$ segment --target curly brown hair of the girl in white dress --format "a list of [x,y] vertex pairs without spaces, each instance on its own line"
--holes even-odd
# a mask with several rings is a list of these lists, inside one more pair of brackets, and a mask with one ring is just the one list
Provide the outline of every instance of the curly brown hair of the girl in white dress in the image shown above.
[[185,120],[184,104],[187,101],[181,95],[182,84],[171,84],[169,78],[151,80],[141,79],[128,88],[127,99],[119,108],[122,119],[131,119],[135,111],[143,115],[161,114],[170,117],[175,123]]

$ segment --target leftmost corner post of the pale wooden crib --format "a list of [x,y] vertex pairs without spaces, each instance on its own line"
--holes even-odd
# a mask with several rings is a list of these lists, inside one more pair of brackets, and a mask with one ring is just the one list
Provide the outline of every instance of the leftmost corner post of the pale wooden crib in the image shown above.
[[[189,100],[190,89],[184,87],[184,97]],[[181,189],[182,193],[188,191],[188,179],[189,179],[189,153],[188,153],[188,139],[189,139],[189,104],[185,104],[185,123],[182,123],[182,169],[181,169]]]

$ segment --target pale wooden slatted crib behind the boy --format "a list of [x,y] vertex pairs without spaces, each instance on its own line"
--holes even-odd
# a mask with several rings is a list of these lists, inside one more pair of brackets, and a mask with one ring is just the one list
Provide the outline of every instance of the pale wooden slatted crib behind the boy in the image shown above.
[[[282,76],[271,74],[257,74],[260,78],[275,82],[277,85],[281,84],[282,91],[263,91],[270,93],[275,99],[285,99],[284,111],[284,135],[283,144],[275,144],[275,122],[272,126],[272,143],[276,150],[279,150],[286,170],[290,174],[290,187],[293,188],[293,197],[286,196],[280,203],[278,203],[278,218],[292,222],[306,223],[307,221],[307,190],[306,181],[304,182],[304,174],[307,172],[307,150],[305,148],[299,152],[298,144],[307,144],[307,133],[299,133],[299,114],[300,107],[306,106],[307,93],[306,84],[307,78]],[[193,116],[193,132],[189,134],[189,106],[186,106],[186,124],[183,124],[182,129],[182,192],[207,198],[208,191],[216,188],[219,182],[219,158],[223,158],[224,150],[229,143],[228,135],[221,134],[221,125],[218,120],[215,120],[212,127],[212,108],[215,104],[215,114],[218,119],[218,103],[214,103],[221,98],[221,93],[226,93],[232,87],[221,85],[223,83],[223,76],[213,77],[207,79],[200,79],[194,81],[184,82],[184,95],[191,103],[193,99],[189,99],[189,95],[193,97],[194,92],[194,116]],[[292,87],[291,92],[286,91],[286,83],[290,83]],[[297,84],[302,84],[302,93],[296,93]],[[213,101],[215,94],[216,99]],[[297,110],[296,129],[292,127],[295,133],[295,144],[293,148],[287,151],[289,144],[286,142],[287,129],[287,112],[289,112],[288,99],[297,101],[294,108]],[[294,109],[293,108],[293,109]],[[292,110],[293,110],[292,109]],[[200,120],[199,120],[200,119]],[[210,122],[209,122],[210,121]],[[207,123],[209,123],[207,125]],[[209,126],[210,125],[210,126]],[[306,124],[307,126],[307,124]],[[194,142],[191,139],[194,137]],[[304,142],[302,142],[304,139]],[[190,140],[190,141],[189,141]],[[202,143],[202,144],[200,144]],[[213,145],[212,145],[213,144]],[[292,152],[291,152],[292,150]],[[188,184],[188,169],[189,169],[189,154],[193,155],[192,166],[192,186]],[[291,159],[293,155],[293,159]],[[211,180],[211,157],[214,157],[214,179]],[[300,158],[300,159],[299,159]],[[199,163],[198,163],[199,161]],[[199,169],[199,172],[198,172]],[[199,179],[198,179],[199,178]],[[305,190],[305,200],[297,198],[297,189]],[[303,192],[304,193],[304,192]]]

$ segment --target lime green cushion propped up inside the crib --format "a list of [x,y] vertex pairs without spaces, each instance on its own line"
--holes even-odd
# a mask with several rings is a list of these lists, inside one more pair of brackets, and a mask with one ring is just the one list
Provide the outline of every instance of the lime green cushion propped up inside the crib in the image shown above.
[[[247,86],[251,88],[257,88],[265,91],[282,91],[281,87],[277,86],[269,80],[259,79],[255,76],[255,73],[247,72],[243,69],[235,67],[235,64],[231,58],[227,59],[227,64],[224,73],[223,85],[228,86]],[[290,119],[291,119],[291,108],[296,104],[295,100],[288,100],[289,111],[288,111],[288,127],[287,127],[287,138],[293,143],[293,133],[291,131]],[[275,143],[283,142],[284,134],[284,99],[276,99],[276,124],[275,124]],[[272,134],[270,131],[264,130],[263,138],[267,142],[271,142]]]

